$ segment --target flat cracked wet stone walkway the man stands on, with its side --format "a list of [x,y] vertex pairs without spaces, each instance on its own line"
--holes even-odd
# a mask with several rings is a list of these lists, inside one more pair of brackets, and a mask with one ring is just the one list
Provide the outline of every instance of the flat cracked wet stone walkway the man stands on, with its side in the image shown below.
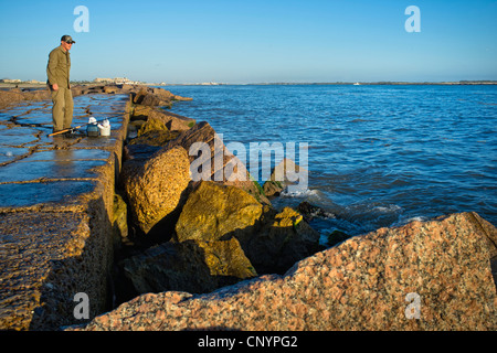
[[129,95],[74,98],[73,127],[108,118],[109,137],[52,132],[51,100],[0,109],[0,330],[57,330],[108,308],[110,220]]

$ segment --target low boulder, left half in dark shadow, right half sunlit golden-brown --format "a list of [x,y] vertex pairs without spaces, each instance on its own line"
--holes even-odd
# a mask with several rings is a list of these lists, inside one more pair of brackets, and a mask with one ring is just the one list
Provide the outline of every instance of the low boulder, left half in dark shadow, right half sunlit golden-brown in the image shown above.
[[168,242],[125,259],[120,266],[136,295],[169,290],[205,293],[257,275],[234,238],[211,244]]

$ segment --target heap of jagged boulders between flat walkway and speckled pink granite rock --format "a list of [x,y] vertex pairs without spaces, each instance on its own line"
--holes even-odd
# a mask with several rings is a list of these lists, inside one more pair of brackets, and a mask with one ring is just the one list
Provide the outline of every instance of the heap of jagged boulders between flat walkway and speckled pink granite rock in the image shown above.
[[[135,229],[135,246],[118,263],[128,296],[210,292],[260,274],[283,274],[320,249],[319,234],[295,210],[273,208],[208,122],[138,101],[131,119],[140,122],[125,147],[120,174]],[[204,150],[198,153],[195,143]],[[199,158],[209,163],[195,167]],[[205,180],[194,180],[195,173]]]

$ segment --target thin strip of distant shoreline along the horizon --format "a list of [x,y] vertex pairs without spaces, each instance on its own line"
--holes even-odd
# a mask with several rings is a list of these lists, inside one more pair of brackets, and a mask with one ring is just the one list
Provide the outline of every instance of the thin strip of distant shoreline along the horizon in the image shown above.
[[[102,86],[102,83],[81,84],[78,86]],[[105,85],[105,84],[104,84]],[[112,85],[112,84],[109,84]],[[357,86],[468,86],[468,85],[497,85],[497,81],[458,81],[458,82],[329,82],[329,83],[250,83],[250,84],[225,84],[225,83],[190,83],[190,84],[159,84],[144,83],[144,86],[326,86],[326,85],[357,85]],[[33,83],[0,83],[1,88],[44,88],[46,84]]]

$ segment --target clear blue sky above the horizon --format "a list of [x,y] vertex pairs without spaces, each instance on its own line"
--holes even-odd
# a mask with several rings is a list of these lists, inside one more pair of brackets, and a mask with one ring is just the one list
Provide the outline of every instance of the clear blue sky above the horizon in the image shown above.
[[[76,32],[77,6],[89,31]],[[421,32],[408,33],[409,6]],[[166,83],[497,79],[497,1],[0,0],[0,78],[45,81],[63,34],[72,79]]]

